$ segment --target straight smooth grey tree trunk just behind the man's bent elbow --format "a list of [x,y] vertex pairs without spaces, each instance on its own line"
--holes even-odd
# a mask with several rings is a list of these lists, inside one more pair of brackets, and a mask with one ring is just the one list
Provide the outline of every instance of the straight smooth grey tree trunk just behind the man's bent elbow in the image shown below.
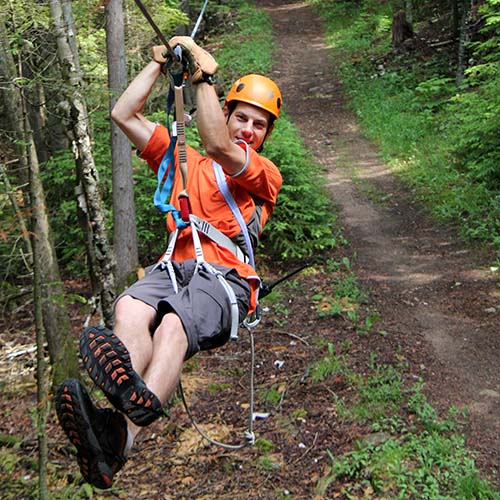
[[[122,0],[110,0],[106,7],[106,51],[110,110],[127,86]],[[137,270],[137,226],[130,142],[111,120],[113,163],[113,248],[116,257],[116,288],[121,292]]]

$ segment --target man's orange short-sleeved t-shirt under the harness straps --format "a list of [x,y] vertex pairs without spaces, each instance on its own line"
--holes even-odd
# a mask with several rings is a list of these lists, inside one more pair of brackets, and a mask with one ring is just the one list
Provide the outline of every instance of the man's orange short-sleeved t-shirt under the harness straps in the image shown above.
[[[168,130],[162,125],[157,125],[141,153],[141,158],[148,162],[149,167],[155,173],[158,171],[169,143]],[[282,179],[278,168],[273,162],[260,156],[249,147],[246,150],[248,155],[246,167],[235,176],[226,175],[226,181],[247,223],[255,248],[264,224],[276,204]],[[177,159],[177,151],[175,156]],[[229,238],[235,238],[238,235],[241,238],[238,221],[219,191],[213,160],[202,156],[195,149],[187,146],[187,165],[187,191],[191,212],[200,219],[212,224]],[[182,176],[180,169],[176,167],[170,202],[168,200],[164,201],[180,209],[177,198],[182,189]],[[167,216],[167,228],[169,232],[175,230],[175,222],[171,214]],[[202,233],[199,233],[199,235],[207,262],[232,267],[236,269],[242,278],[250,281],[252,294],[249,313],[253,312],[256,305],[255,292],[258,284],[255,270],[249,264],[240,261],[229,249],[218,245]],[[192,258],[195,258],[193,238],[191,228],[187,227],[179,232],[172,260],[183,261]]]

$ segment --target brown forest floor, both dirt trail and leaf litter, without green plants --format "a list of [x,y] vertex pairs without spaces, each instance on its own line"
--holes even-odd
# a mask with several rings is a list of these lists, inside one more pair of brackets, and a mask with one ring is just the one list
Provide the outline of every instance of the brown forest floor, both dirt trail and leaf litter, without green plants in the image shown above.
[[[169,419],[160,419],[141,435],[113,489],[94,498],[314,498],[330,464],[327,450],[342,455],[372,433],[369,426],[337,414],[332,399],[350,397],[342,377],[311,381],[311,362],[328,354],[326,343],[335,345],[339,354],[344,346],[360,372],[372,353],[383,363],[404,362],[405,380],[423,379],[425,394],[440,412],[451,406],[468,409],[462,429],[467,446],[477,453],[483,477],[498,483],[498,275],[490,272],[487,256],[429,221],[363,137],[335,80],[334,61],[312,11],[298,0],[256,4],[273,21],[279,47],[273,77],[287,112],[324,169],[348,240],[324,258],[345,255],[351,260],[370,307],[380,315],[377,329],[384,335],[360,335],[342,317],[315,314],[310,291],[321,290],[328,277],[312,270],[301,273],[295,288],[283,286],[289,294],[286,304],[269,305],[255,330],[255,411],[262,417],[254,422],[257,446],[239,451],[208,446],[177,402]],[[75,338],[81,320],[75,317]],[[5,356],[7,350],[32,343],[28,335],[19,335],[18,327],[26,331],[26,325],[11,324],[1,334],[2,393],[7,394],[5,383],[15,377],[12,393],[24,388],[25,395],[15,405],[2,397],[0,413],[8,418],[2,419],[0,432],[29,436],[23,453],[35,458],[34,354]],[[238,342],[190,361],[183,376],[196,420],[216,439],[237,443],[246,429],[249,350],[249,336],[242,331]],[[54,415],[48,436],[52,471],[60,477],[51,491],[62,498],[67,483],[78,480],[78,468]],[[27,472],[26,479],[33,475]],[[6,491],[0,493],[7,498]],[[346,498],[334,485],[330,497]]]

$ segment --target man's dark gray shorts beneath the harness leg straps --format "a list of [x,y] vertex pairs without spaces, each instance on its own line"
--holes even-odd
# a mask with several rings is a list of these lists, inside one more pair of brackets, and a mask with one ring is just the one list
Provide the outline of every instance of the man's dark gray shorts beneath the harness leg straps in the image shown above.
[[[167,270],[150,266],[146,268],[144,278],[127,288],[117,300],[130,295],[153,307],[157,311],[153,332],[165,314],[177,314],[188,338],[188,359],[200,350],[213,349],[227,342],[231,332],[231,306],[216,276],[204,269],[194,272],[194,259],[172,261],[172,265],[177,277],[178,293],[174,292]],[[250,285],[235,269],[212,265],[224,275],[234,290],[239,321],[242,322],[248,312]]]

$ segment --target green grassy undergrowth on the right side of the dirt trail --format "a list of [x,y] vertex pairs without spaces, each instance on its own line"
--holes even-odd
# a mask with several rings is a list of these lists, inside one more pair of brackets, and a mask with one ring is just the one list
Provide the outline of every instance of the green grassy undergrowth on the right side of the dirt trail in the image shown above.
[[[326,20],[328,42],[340,56],[338,71],[366,135],[437,219],[500,255],[498,1],[485,1],[477,12],[480,33],[468,45],[474,65],[460,88],[450,65],[453,52],[388,51],[390,31],[377,30],[377,24],[387,28],[377,19],[399,8],[395,3],[310,3]],[[448,15],[440,8],[419,14],[434,22]],[[428,29],[424,21],[417,30]]]

